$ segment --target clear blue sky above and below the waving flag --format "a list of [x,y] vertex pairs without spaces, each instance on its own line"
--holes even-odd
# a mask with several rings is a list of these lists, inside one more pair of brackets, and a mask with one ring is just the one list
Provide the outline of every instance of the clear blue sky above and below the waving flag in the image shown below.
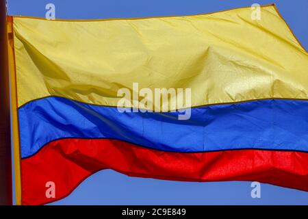
[[[44,17],[47,3],[55,4],[56,18],[67,19],[201,14],[276,3],[298,40],[308,48],[307,0],[8,0],[8,12]],[[251,190],[250,182],[188,183],[103,170],[51,205],[308,205],[308,192],[261,184],[261,198],[251,198]]]

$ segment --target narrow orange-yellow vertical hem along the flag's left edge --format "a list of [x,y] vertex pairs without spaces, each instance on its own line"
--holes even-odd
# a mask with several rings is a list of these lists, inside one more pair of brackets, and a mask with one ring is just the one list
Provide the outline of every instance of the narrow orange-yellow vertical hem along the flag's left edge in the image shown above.
[[15,198],[16,205],[21,205],[21,153],[18,134],[17,94],[16,94],[16,71],[14,59],[14,42],[12,38],[12,16],[8,16],[8,57],[10,67],[10,93],[12,109],[12,135],[14,149],[14,174],[15,174]]

